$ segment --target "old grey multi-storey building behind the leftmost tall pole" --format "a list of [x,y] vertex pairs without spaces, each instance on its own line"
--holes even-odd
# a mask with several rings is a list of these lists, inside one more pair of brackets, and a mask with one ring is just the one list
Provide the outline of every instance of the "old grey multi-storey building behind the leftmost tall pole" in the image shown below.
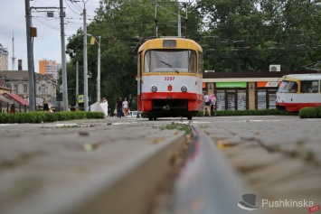
[[[53,104],[56,102],[57,79],[53,79],[51,74],[35,75],[35,98],[46,97]],[[11,88],[11,93],[18,95],[29,102],[29,84],[27,70],[5,70],[0,71],[0,79],[4,81],[5,88]]]

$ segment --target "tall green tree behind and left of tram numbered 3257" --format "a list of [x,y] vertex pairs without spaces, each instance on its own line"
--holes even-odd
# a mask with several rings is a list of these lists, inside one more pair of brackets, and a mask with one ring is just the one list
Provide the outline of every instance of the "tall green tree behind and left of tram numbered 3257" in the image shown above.
[[[159,33],[161,35],[177,34],[177,5],[165,7],[158,12]],[[183,9],[182,9],[183,10]],[[182,12],[183,13],[183,12]],[[137,65],[134,63],[139,46],[146,39],[155,37],[155,4],[148,0],[101,1],[93,22],[88,26],[88,33],[101,36],[101,95],[113,107],[119,97],[127,97],[129,106],[137,103]],[[197,23],[194,23],[197,29]],[[194,33],[195,34],[195,33]],[[71,70],[72,79],[76,60],[82,65],[82,31],[79,30],[69,38],[67,49],[72,50]],[[97,47],[88,47],[88,70],[97,79]],[[81,73],[81,72],[80,72]],[[72,80],[69,84],[74,84]],[[80,78],[82,87],[82,78]],[[71,92],[73,93],[73,92]],[[95,88],[89,88],[89,94],[96,98]],[[71,95],[71,98],[72,95]],[[72,101],[72,100],[71,100]]]

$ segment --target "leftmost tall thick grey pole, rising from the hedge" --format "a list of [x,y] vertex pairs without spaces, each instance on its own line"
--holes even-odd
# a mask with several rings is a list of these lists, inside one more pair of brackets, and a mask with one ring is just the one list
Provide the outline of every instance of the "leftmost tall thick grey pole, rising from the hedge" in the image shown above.
[[31,10],[29,0],[24,0],[25,4],[25,24],[27,38],[27,55],[28,55],[28,85],[29,85],[29,111],[35,110],[34,79],[33,79],[33,47],[31,35]]

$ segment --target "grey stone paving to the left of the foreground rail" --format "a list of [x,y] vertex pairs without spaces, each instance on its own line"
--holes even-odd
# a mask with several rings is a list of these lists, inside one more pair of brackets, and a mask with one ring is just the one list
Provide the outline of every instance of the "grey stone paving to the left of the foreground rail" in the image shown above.
[[0,125],[0,135],[0,213],[34,214],[29,210],[37,204],[51,213],[68,200],[64,195],[78,192],[80,183],[114,172],[119,163],[165,142],[177,130],[109,117]]

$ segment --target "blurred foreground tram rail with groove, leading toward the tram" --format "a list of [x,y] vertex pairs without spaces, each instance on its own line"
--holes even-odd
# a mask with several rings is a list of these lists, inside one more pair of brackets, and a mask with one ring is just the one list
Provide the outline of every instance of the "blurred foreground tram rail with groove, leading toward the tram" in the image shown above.
[[[165,121],[165,123],[167,122]],[[173,122],[171,123],[173,124]],[[227,160],[224,159],[221,151],[218,151],[212,139],[200,128],[203,126],[203,123],[196,122],[193,125],[191,125],[191,123],[187,124],[193,129],[194,137],[192,142],[187,142],[187,137],[183,131],[159,130],[157,127],[159,125],[151,126],[149,123],[148,125],[144,124],[144,130],[142,130],[142,126],[124,125],[127,126],[127,134],[129,134],[127,136],[119,135],[123,133],[123,131],[118,131],[119,129],[117,129],[116,126],[106,127],[106,125],[102,126],[101,124],[97,124],[95,127],[90,126],[90,129],[85,127],[89,135],[83,136],[75,134],[74,136],[78,137],[77,144],[74,144],[72,147],[72,142],[61,145],[68,145],[68,152],[71,152],[71,157],[68,157],[68,160],[66,159],[67,163],[71,161],[71,158],[76,156],[80,158],[77,160],[78,162],[80,160],[84,162],[90,161],[90,163],[86,166],[81,166],[80,170],[77,170],[76,176],[72,174],[70,181],[63,183],[63,185],[54,183],[53,187],[57,185],[54,188],[48,190],[44,188],[44,191],[42,190],[40,194],[30,194],[30,198],[21,201],[17,200],[15,203],[12,202],[12,206],[6,207],[5,209],[1,206],[1,197],[3,197],[3,195],[0,194],[0,213],[243,213],[242,211],[244,210],[237,207],[237,202],[241,200],[241,195],[249,192],[250,189],[244,187],[240,181],[240,176],[233,171],[233,168]],[[72,130],[79,132],[82,130],[82,127],[70,127],[68,130],[68,132]],[[88,144],[102,142],[101,139],[105,139],[108,130],[114,134],[118,132],[118,135],[109,135],[109,140],[105,140],[104,144],[101,144],[101,146],[98,146],[95,150],[79,150],[81,148],[80,145],[83,145],[89,140],[91,143]],[[48,133],[46,129],[43,131]],[[52,129],[52,132],[58,131]],[[48,136],[43,135],[43,137],[50,137],[50,134],[48,134]],[[58,138],[57,136],[58,139],[62,140],[63,135],[60,137],[61,138]],[[92,139],[90,137],[92,137]],[[136,149],[136,153],[129,155],[129,152],[126,151],[124,154],[127,154],[127,158],[120,158],[110,163],[112,165],[111,167],[103,165],[109,162],[106,162],[109,156],[105,153],[108,153],[111,147],[116,146],[116,144],[130,147],[133,146],[128,144],[130,141],[134,143],[134,141],[138,142],[143,140],[149,143],[140,143]],[[16,142],[16,144],[18,144],[18,142]],[[187,144],[190,146],[186,153]],[[76,150],[71,150],[71,148],[76,148]],[[60,151],[60,149],[54,147],[43,154],[52,155],[52,149],[54,149],[54,152]],[[64,149],[66,149],[66,147],[64,147]],[[124,148],[121,147],[121,149]],[[67,154],[66,152],[67,151],[64,151],[63,154]],[[181,167],[182,164],[175,164],[177,163],[177,158],[182,158],[178,157],[182,154],[187,154],[184,157],[185,162],[183,168]],[[57,155],[49,156],[49,160],[56,157]],[[58,155],[58,157],[62,157],[62,160],[64,158],[61,155]],[[20,167],[32,169],[34,166],[29,164],[40,164],[39,158],[42,159],[42,161],[48,162],[44,157],[37,156],[35,160],[28,163],[28,165]],[[112,159],[115,159],[115,157]],[[102,160],[104,161],[99,163],[99,166],[95,166],[96,169],[90,169],[92,163]],[[73,160],[72,162],[75,161]],[[15,167],[13,171],[20,171],[20,167]],[[54,167],[58,168],[61,166],[55,165]],[[71,167],[75,168],[74,165],[71,165]],[[76,167],[78,167],[78,163]],[[26,171],[25,169],[24,171]],[[69,169],[70,168],[66,168],[66,170]],[[54,172],[55,169],[50,173],[53,174]],[[1,174],[0,179],[2,179]],[[41,179],[41,177],[36,179]],[[35,181],[33,181],[33,186],[36,185]],[[42,185],[45,186],[45,182],[42,182]],[[50,191],[50,194],[46,191]],[[159,193],[163,193],[167,198],[163,203],[161,202],[161,205],[155,202],[157,200],[157,194]],[[263,213],[262,210],[260,213]]]

